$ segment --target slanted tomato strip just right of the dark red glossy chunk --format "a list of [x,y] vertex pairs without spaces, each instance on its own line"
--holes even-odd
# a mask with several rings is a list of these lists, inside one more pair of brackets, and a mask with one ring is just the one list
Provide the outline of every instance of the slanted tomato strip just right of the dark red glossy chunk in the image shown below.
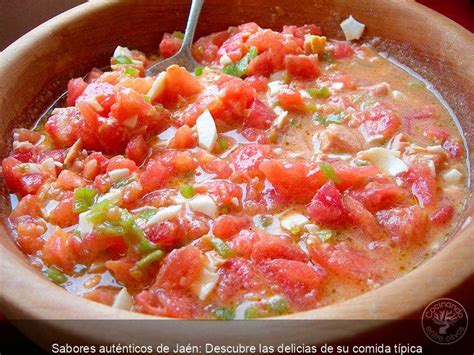
[[343,202],[347,221],[363,232],[364,239],[376,240],[385,236],[385,231],[377,223],[377,218],[366,210],[362,203],[350,196],[344,196]]

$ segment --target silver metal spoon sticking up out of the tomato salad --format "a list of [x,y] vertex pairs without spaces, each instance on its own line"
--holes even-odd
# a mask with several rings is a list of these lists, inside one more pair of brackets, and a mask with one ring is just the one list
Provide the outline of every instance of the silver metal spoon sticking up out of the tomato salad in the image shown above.
[[194,69],[199,65],[192,56],[192,45],[194,32],[196,31],[199,14],[201,13],[203,4],[204,0],[192,0],[188,23],[186,24],[186,31],[184,32],[183,43],[181,44],[181,48],[179,49],[178,53],[161,62],[153,64],[151,67],[145,70],[146,76],[157,75],[173,64],[185,67],[191,72],[194,71]]

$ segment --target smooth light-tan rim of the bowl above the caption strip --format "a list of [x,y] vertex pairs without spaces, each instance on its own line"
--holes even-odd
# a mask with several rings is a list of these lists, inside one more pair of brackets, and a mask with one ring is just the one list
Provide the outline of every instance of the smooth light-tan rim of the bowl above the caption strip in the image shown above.
[[[390,1],[395,2],[395,0]],[[91,16],[95,12],[115,6],[115,4],[115,2],[88,2],[72,8],[31,30],[1,53],[0,76],[21,56],[21,53],[27,50],[32,42],[44,40],[47,33],[52,29],[59,29],[73,19],[77,21],[79,18]],[[434,17],[436,21],[446,27],[446,31],[454,32],[457,36],[465,39],[467,52],[474,53],[474,38],[468,30],[414,1],[406,1],[404,6],[409,6],[420,16],[429,15]],[[0,234],[0,238],[10,238],[4,226],[1,226]],[[464,260],[472,260],[473,250],[472,248],[466,248],[466,245],[473,245],[473,243],[474,225],[467,223],[458,231],[456,238],[453,238],[428,261],[380,288],[336,304],[276,318],[380,319],[387,321],[406,318],[430,303],[433,296],[441,297],[473,275],[474,264],[464,262]],[[35,284],[37,288],[35,294],[25,292],[26,300],[25,298],[19,300],[15,294],[9,292],[8,287],[0,288],[1,309],[7,317],[12,319],[42,319],[45,310],[48,311],[50,316],[47,319],[170,319],[117,310],[75,296],[46,280],[37,272],[26,272],[28,268],[30,270],[32,268],[25,265],[25,261],[20,260],[17,253],[7,250],[3,244],[0,244],[0,254],[2,254],[2,258],[0,258],[2,283],[4,281],[4,284],[14,282],[15,287],[22,290],[27,290],[31,284]],[[446,265],[456,270],[456,273],[447,272]],[[18,268],[25,271],[24,277],[17,277],[16,270]],[[420,287],[420,280],[423,281],[421,282],[423,284],[421,291],[407,292],[407,290],[413,290],[415,286]],[[39,298],[36,296],[38,292],[45,292],[48,297]],[[82,309],[81,314],[83,316],[81,317],[78,317],[76,312],[72,312],[74,306],[77,307],[78,305]],[[13,312],[14,310],[15,312]],[[21,316],[18,317],[15,313]],[[383,318],[380,317],[382,314]]]

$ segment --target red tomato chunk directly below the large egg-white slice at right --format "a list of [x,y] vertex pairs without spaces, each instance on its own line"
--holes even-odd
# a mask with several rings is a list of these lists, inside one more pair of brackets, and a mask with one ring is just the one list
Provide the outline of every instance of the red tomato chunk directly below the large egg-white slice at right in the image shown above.
[[379,182],[369,182],[363,189],[351,191],[350,195],[372,212],[393,207],[405,198],[405,192],[397,185]]

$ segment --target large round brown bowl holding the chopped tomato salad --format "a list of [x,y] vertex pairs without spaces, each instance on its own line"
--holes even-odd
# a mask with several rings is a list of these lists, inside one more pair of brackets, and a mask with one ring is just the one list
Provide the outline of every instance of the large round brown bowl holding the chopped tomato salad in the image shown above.
[[[276,6],[275,4],[278,3]],[[117,45],[150,53],[165,31],[184,29],[189,1],[90,2],[65,12],[29,32],[0,54],[0,155],[8,153],[14,127],[31,126],[64,91],[67,80],[92,67],[105,66]],[[430,80],[451,106],[464,131],[466,144],[474,139],[474,36],[449,19],[409,0],[207,0],[197,36],[255,21],[281,29],[285,24],[316,23],[330,37],[341,38],[339,23],[352,14],[367,25],[365,39],[380,37],[376,46]],[[470,149],[468,149],[470,150]],[[472,158],[471,158],[472,163]],[[472,181],[472,167],[471,181]],[[5,189],[3,189],[5,190]],[[471,188],[472,192],[472,188]],[[8,212],[4,191],[4,213]],[[473,199],[469,197],[464,222],[451,241],[433,258],[406,276],[359,297],[317,310],[286,316],[290,319],[375,319],[349,328],[308,331],[305,322],[185,322],[162,321],[153,328],[154,340],[218,343],[341,339],[390,320],[419,317],[433,299],[456,295],[466,304],[473,297]],[[42,277],[27,262],[0,226],[0,310],[10,319],[150,319],[76,297]],[[462,296],[464,298],[462,298]],[[143,324],[143,322],[139,322]],[[44,341],[145,341],[148,326],[117,323],[113,331],[97,331],[81,322],[48,323],[29,336]],[[137,323],[134,323],[137,324]],[[258,325],[257,325],[258,324]],[[277,325],[278,324],[278,325]],[[53,327],[53,333],[51,330]],[[149,329],[148,329],[149,330]],[[126,336],[126,338],[124,338]],[[130,338],[133,337],[133,338]]]

